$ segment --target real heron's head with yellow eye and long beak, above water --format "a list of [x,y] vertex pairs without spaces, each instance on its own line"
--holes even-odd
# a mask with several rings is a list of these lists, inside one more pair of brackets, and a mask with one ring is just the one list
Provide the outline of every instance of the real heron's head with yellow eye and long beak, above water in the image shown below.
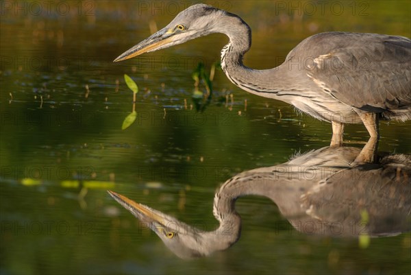
[[[179,12],[169,25],[122,53],[114,62],[133,58],[145,52],[182,44],[199,36],[221,32],[223,25],[219,19],[227,14],[229,13],[211,5],[192,5]],[[236,17],[234,14],[229,14],[229,16]],[[239,18],[237,20],[241,21]]]

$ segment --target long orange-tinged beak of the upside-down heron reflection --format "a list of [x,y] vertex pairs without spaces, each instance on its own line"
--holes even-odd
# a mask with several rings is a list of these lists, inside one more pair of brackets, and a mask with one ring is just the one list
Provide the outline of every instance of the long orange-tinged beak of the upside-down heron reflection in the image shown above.
[[[164,219],[161,215],[158,215],[154,209],[145,206],[144,204],[138,204],[129,198],[120,195],[119,193],[109,191],[108,193],[121,204],[124,208],[130,211],[134,216],[140,219],[141,222],[147,222],[147,225],[154,231],[159,230],[158,226],[164,226]],[[153,228],[151,227],[153,226]]]

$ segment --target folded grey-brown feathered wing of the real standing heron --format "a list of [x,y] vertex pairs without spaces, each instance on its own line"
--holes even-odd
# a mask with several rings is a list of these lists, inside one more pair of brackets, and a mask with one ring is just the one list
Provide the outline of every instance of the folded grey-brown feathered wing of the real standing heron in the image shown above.
[[[313,58],[307,75],[329,95],[360,110],[409,112],[411,40],[381,34],[340,36],[347,37],[327,41],[324,49],[330,51]],[[354,42],[347,45],[342,39]]]

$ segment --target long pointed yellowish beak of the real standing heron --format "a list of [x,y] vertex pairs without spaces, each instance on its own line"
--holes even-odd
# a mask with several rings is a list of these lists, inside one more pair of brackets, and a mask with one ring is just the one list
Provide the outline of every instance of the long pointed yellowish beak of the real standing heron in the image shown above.
[[133,58],[134,56],[138,56],[141,53],[146,53],[147,51],[155,51],[159,47],[173,42],[173,40],[173,34],[167,32],[166,29],[161,29],[152,36],[149,36],[149,38],[142,40],[131,49],[128,49],[124,53],[121,53],[121,55],[116,58],[114,62]]

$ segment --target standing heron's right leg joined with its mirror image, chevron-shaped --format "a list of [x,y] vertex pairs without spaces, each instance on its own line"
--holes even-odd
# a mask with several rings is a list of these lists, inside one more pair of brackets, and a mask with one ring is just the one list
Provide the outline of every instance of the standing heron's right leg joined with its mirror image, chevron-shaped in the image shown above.
[[366,130],[368,130],[370,134],[370,139],[364,148],[362,148],[360,154],[357,156],[356,160],[354,160],[354,163],[373,163],[378,150],[378,116],[375,113],[362,113],[359,115]]

